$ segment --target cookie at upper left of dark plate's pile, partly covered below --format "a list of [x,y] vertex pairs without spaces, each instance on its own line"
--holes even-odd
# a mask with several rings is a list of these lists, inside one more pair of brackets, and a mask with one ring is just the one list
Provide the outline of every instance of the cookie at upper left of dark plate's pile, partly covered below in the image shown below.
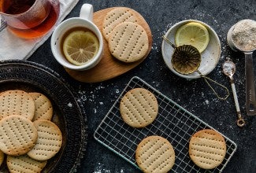
[[32,120],[35,102],[24,90],[6,90],[0,94],[0,120],[6,116],[19,115]]

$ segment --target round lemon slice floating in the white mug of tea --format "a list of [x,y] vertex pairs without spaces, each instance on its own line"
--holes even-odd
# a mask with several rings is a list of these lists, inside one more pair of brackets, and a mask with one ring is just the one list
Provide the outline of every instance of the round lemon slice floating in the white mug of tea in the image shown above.
[[87,64],[98,53],[98,39],[91,31],[72,31],[63,42],[63,52],[69,62]]

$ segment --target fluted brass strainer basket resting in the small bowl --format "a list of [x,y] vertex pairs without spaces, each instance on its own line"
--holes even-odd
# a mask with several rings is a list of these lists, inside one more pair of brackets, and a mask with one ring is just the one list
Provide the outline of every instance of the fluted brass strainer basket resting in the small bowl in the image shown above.
[[172,57],[173,68],[180,74],[191,74],[198,70],[201,63],[201,54],[191,45],[182,45],[175,48]]

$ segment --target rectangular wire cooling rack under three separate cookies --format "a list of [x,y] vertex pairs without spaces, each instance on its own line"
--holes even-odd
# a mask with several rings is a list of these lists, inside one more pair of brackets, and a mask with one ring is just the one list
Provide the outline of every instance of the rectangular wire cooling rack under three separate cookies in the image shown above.
[[[124,123],[119,109],[120,101],[124,94],[128,90],[137,87],[150,90],[158,99],[158,116],[153,123],[144,128],[133,128]],[[139,142],[147,136],[159,135],[171,142],[176,154],[175,164],[170,172],[221,172],[237,149],[236,143],[223,134],[227,145],[227,153],[218,167],[206,171],[197,167],[188,155],[191,135],[206,128],[213,129],[213,127],[187,112],[186,109],[165,97],[165,95],[155,90],[142,79],[139,79],[139,77],[133,77],[106,114],[102,123],[99,124],[94,135],[98,142],[123,157],[124,160],[127,160],[135,167],[138,167],[135,161],[135,149]]]

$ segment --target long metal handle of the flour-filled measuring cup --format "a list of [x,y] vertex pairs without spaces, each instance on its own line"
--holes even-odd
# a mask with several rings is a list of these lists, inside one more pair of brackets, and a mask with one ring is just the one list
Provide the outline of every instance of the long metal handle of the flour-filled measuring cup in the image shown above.
[[256,98],[254,88],[254,66],[252,53],[244,53],[245,55],[245,75],[246,75],[246,104],[247,115],[256,116]]

